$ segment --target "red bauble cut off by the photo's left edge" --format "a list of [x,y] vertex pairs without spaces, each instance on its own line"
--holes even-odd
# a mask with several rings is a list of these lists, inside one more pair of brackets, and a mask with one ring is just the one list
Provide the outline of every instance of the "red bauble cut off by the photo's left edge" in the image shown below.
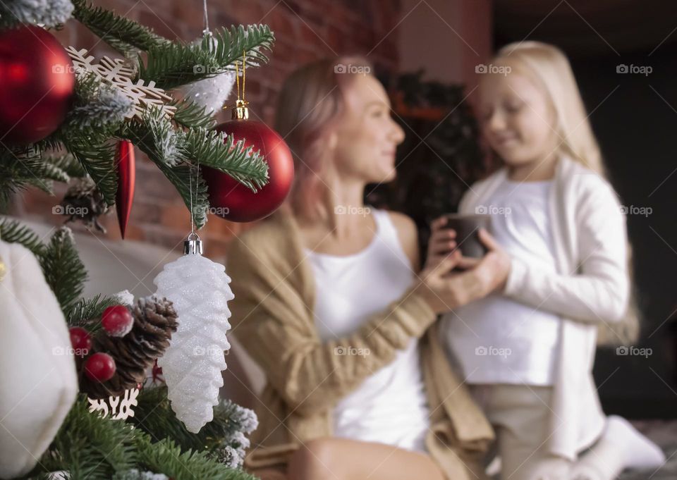
[[0,32],[0,141],[37,142],[71,108],[75,74],[59,41],[44,28]]

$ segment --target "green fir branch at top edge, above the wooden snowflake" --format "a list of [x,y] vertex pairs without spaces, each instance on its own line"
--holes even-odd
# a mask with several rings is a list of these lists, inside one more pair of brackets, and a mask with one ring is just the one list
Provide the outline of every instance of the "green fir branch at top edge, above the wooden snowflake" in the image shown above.
[[95,7],[85,0],[73,0],[73,5],[73,16],[124,56],[133,56],[138,50],[145,51],[169,43],[151,28]]

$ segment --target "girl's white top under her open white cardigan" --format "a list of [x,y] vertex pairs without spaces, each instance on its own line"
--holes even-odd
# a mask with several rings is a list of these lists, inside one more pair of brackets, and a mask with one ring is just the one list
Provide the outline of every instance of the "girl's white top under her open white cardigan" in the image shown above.
[[[551,185],[506,180],[487,204],[494,211],[492,234],[501,247],[533,268],[555,273]],[[468,383],[551,386],[560,327],[556,314],[498,293],[456,308],[441,321],[449,354],[461,364]]]

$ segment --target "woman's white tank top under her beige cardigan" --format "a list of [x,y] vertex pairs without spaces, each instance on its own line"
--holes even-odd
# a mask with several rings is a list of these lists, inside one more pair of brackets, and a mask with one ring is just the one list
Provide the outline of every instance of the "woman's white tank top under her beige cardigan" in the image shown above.
[[[372,216],[377,231],[364,250],[342,256],[305,250],[315,273],[315,325],[322,341],[355,332],[413,283],[411,262],[388,212],[372,209]],[[370,352],[341,345],[334,355]],[[393,362],[339,400],[333,412],[334,435],[425,451],[428,417],[418,339],[411,338]]]

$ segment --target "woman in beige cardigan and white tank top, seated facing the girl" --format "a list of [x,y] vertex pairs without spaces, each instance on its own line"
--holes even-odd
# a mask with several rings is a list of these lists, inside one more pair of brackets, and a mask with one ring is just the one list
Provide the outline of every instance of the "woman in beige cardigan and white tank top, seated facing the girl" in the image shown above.
[[245,466],[293,480],[482,478],[493,432],[435,320],[492,292],[508,265],[489,252],[450,274],[452,254],[419,272],[413,221],[364,206],[367,184],[394,178],[404,137],[365,71],[339,58],[288,78],[276,129],[295,154],[293,191],[231,247],[233,333],[268,381]]

